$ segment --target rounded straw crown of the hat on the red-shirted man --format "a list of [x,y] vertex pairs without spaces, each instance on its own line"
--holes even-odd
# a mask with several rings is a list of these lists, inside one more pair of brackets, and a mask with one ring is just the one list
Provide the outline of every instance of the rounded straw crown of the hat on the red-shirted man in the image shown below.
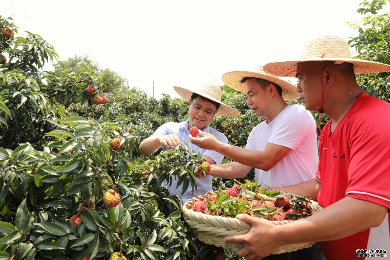
[[351,51],[348,42],[338,36],[317,37],[306,42],[300,55],[302,60],[325,58],[348,58],[351,59]]

